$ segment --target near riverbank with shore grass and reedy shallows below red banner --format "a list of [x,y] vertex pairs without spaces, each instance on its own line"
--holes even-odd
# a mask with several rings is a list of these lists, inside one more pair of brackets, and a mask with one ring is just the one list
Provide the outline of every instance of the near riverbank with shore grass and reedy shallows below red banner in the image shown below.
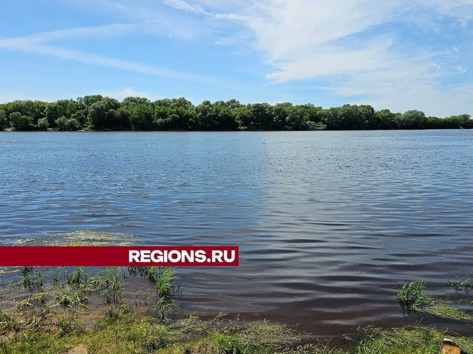
[[[135,293],[131,279],[142,285]],[[11,269],[0,287],[0,353],[426,354],[444,337],[473,351],[473,338],[437,328],[359,328],[340,346],[266,320],[181,316],[180,291],[172,268]]]

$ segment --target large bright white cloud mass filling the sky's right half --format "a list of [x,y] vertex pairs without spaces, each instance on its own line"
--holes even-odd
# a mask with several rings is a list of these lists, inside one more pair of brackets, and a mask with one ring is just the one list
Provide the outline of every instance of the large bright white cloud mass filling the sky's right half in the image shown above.
[[247,10],[243,21],[273,68],[266,74],[270,83],[324,80],[336,96],[368,97],[355,103],[448,115],[460,107],[473,110],[471,93],[461,89],[468,82],[440,84],[466,71],[448,57],[458,47],[422,47],[422,39],[382,34],[379,27],[396,23],[404,31],[438,31],[439,18],[466,26],[472,16],[471,0],[265,0]]

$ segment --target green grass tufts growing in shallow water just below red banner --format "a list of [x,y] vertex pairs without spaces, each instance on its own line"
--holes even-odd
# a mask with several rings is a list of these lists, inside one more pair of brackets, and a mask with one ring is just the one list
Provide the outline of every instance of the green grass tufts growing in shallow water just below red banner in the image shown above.
[[[136,293],[135,307],[144,304],[146,313],[167,321],[178,308],[173,298],[179,290],[175,270],[167,267],[139,268],[136,275],[148,279],[150,285],[147,291]],[[124,302],[125,279],[132,274],[123,267],[101,270],[77,267],[62,272],[64,276],[60,276],[60,268],[22,267],[16,276],[11,273],[4,276],[0,281],[0,304],[9,305],[11,299],[18,299],[9,306],[17,312],[44,307],[60,312],[77,312],[102,302],[119,306]]]

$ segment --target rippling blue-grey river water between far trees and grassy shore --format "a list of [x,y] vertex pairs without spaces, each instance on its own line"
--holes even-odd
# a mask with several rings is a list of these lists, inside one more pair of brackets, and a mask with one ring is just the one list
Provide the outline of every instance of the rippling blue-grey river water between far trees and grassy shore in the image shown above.
[[1,132],[0,242],[238,245],[237,268],[178,269],[183,312],[408,324],[401,284],[458,297],[473,271],[472,134]]

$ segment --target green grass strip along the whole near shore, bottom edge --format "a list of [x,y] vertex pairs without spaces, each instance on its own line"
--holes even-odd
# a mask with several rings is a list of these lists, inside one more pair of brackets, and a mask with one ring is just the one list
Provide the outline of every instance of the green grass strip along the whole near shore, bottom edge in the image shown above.
[[348,349],[341,350],[327,344],[304,344],[300,333],[268,321],[190,317],[159,324],[124,309],[104,316],[93,328],[38,317],[12,331],[9,340],[0,341],[0,353],[66,353],[84,345],[88,353],[95,354],[426,354],[439,353],[444,337],[473,351],[472,338],[435,328],[360,328],[349,338]]

